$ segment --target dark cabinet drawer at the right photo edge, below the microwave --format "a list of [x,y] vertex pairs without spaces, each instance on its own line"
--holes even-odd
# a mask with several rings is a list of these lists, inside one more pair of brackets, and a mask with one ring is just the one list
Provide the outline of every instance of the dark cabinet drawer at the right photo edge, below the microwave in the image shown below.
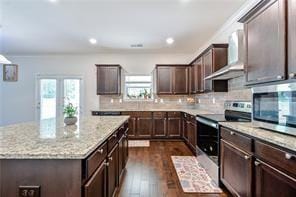
[[255,141],[255,155],[296,177],[296,155],[260,141]]

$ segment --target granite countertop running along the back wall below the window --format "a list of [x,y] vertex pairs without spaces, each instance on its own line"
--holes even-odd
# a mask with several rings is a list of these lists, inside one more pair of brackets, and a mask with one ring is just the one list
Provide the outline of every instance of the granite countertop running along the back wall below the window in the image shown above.
[[165,112],[169,112],[169,111],[180,111],[180,112],[185,112],[187,114],[196,116],[198,114],[214,114],[214,112],[210,112],[204,109],[189,109],[189,108],[183,108],[183,109],[98,109],[98,110],[92,110],[92,111],[108,111],[108,112],[123,112],[123,111],[165,111]]

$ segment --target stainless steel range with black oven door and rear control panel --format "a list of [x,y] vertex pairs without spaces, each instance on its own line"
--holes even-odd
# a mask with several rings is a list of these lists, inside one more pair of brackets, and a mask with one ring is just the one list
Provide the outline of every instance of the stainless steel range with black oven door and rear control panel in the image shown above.
[[245,101],[226,101],[224,114],[203,114],[197,120],[197,158],[211,178],[219,184],[219,122],[250,122],[252,105]]

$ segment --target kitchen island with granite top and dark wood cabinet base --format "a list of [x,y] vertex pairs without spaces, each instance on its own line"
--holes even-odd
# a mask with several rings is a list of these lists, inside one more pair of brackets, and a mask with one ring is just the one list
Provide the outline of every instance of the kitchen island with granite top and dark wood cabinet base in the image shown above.
[[113,196],[128,158],[129,116],[0,127],[0,196]]

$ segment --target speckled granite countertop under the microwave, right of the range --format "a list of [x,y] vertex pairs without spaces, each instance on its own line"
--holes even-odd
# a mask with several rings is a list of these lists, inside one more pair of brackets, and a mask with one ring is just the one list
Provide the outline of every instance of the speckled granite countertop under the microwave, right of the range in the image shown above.
[[220,122],[219,124],[296,152],[296,137],[257,128],[252,123]]

